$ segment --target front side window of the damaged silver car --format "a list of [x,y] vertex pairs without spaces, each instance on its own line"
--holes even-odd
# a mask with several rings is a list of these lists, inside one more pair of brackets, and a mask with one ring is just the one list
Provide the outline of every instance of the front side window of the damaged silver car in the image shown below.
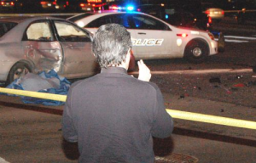
[[55,27],[61,42],[90,42],[89,34],[71,23],[55,20]]

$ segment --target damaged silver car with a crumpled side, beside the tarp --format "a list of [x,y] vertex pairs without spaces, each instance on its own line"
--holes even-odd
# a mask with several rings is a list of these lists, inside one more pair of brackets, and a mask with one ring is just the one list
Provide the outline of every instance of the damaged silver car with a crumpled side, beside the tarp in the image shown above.
[[55,70],[71,78],[96,73],[90,32],[53,17],[0,19],[0,81],[9,84],[28,72]]

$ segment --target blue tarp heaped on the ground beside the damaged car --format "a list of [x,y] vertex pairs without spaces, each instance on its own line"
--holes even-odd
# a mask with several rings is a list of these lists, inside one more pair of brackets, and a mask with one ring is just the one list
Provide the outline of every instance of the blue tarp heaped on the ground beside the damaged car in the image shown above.
[[[49,72],[42,71],[38,75],[28,73],[26,76],[16,79],[7,88],[67,95],[70,85],[71,83],[65,77],[59,76],[55,70],[50,70]],[[65,104],[61,101],[24,96],[21,97],[21,100],[25,104],[44,104],[51,106]]]

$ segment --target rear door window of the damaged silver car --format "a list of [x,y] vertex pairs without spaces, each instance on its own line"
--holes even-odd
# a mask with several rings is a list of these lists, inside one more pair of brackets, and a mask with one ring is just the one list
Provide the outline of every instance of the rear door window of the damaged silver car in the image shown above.
[[53,41],[49,21],[40,21],[29,25],[26,30],[26,40]]

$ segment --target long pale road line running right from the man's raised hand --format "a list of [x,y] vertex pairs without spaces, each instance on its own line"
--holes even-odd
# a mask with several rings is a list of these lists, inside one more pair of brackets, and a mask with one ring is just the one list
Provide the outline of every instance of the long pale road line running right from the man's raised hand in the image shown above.
[[[253,72],[252,69],[211,69],[211,70],[171,70],[171,71],[151,71],[152,75],[168,74],[210,74],[210,73],[245,73]],[[138,75],[138,72],[129,72],[130,75]]]

